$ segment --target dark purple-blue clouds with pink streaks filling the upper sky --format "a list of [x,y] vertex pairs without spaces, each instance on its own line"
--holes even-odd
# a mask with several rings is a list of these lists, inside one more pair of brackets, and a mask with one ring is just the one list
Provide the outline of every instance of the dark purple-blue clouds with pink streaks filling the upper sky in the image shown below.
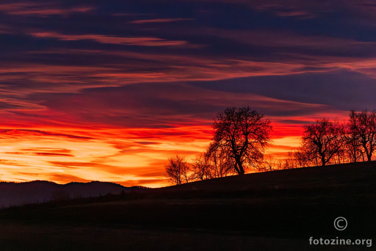
[[[154,128],[246,103],[281,119],[326,112],[310,105],[372,108],[374,10],[369,1],[2,2],[0,108],[9,119]],[[302,104],[281,111],[255,94]]]

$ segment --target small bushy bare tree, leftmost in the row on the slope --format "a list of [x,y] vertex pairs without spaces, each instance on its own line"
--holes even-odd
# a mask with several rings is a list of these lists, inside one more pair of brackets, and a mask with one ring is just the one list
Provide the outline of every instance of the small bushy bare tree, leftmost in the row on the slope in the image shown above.
[[180,185],[189,181],[190,170],[186,157],[176,155],[168,158],[165,171],[167,180],[172,184]]

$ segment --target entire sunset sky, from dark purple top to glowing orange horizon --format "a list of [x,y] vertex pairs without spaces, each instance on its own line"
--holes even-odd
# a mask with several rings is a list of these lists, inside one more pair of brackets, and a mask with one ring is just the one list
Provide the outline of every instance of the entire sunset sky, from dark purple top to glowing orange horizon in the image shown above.
[[250,106],[268,153],[375,107],[373,0],[0,2],[3,181],[168,185],[164,163]]

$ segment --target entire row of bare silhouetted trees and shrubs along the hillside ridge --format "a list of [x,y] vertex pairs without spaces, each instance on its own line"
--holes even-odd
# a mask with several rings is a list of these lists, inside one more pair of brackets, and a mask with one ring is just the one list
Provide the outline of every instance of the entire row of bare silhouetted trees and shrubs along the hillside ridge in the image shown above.
[[376,151],[376,110],[351,110],[349,119],[317,119],[303,125],[300,146],[285,157],[265,154],[270,146],[270,119],[249,107],[227,108],[217,113],[209,146],[188,162],[175,155],[165,164],[172,184],[228,175],[291,169],[307,166],[371,161]]

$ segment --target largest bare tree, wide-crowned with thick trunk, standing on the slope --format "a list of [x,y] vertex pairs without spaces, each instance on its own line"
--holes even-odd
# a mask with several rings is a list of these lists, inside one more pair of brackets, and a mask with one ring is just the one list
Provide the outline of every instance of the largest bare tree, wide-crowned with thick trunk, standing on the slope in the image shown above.
[[247,166],[256,167],[263,161],[265,148],[271,141],[270,119],[263,117],[264,114],[249,107],[232,107],[217,113],[208,153],[221,149],[233,159],[233,168],[238,174],[244,174]]

